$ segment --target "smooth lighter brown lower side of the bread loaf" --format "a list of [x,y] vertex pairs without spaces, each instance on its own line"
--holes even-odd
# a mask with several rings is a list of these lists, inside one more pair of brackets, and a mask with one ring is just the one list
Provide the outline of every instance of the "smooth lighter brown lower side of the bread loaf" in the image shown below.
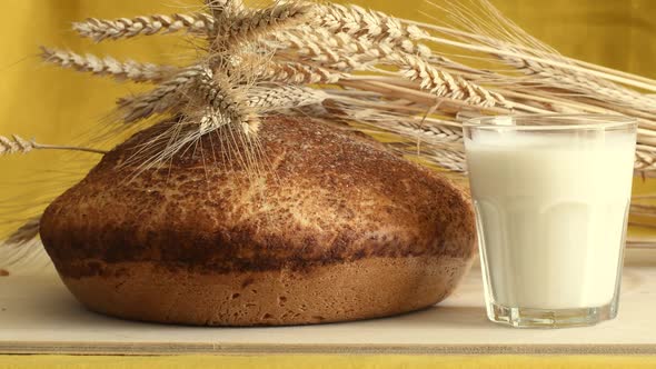
[[444,299],[468,267],[448,257],[371,258],[307,272],[188,273],[152,262],[101,265],[98,276],[63,277],[91,310],[202,326],[307,325],[408,312]]

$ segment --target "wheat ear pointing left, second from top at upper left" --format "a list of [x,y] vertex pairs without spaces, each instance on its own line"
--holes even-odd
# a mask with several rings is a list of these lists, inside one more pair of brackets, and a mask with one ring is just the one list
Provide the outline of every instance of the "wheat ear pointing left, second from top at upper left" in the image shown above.
[[72,68],[81,72],[91,72],[97,76],[110,76],[117,80],[159,83],[178,69],[170,66],[139,63],[131,60],[120,62],[111,57],[98,58],[89,53],[82,57],[72,51],[44,47],[41,50],[41,58],[47,62],[62,68]]

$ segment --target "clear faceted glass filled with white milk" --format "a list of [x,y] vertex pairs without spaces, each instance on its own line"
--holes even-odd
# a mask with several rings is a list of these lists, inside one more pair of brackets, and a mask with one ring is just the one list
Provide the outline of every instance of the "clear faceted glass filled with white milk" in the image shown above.
[[491,321],[556,328],[617,316],[636,129],[589,114],[465,123]]

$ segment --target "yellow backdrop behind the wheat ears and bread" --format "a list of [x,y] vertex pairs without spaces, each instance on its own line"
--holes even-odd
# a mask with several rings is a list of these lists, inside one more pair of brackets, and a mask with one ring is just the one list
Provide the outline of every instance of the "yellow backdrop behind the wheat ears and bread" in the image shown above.
[[[440,1],[440,0],[436,0]],[[465,0],[466,1],[466,0]],[[423,19],[423,0],[359,0],[357,3]],[[51,143],[85,142],[101,127],[112,101],[141,87],[44,67],[39,44],[111,52],[137,60],[177,62],[182,38],[149,37],[92,44],[69,30],[86,17],[121,17],[193,10],[197,0],[2,0],[0,22],[0,134],[20,133]],[[656,1],[652,0],[494,0],[519,26],[563,53],[656,78]],[[425,20],[425,18],[423,19]],[[21,193],[37,201],[83,173],[70,156],[38,152],[0,161],[0,222],[16,215],[4,199]],[[81,156],[93,160],[92,156]],[[82,164],[89,166],[89,163]],[[51,179],[57,186],[50,184]],[[638,183],[638,190],[646,190]],[[2,226],[0,225],[0,228]]]

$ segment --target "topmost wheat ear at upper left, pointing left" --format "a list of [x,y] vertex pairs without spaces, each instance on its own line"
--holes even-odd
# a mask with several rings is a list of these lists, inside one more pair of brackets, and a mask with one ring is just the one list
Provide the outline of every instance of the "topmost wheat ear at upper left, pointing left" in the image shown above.
[[196,34],[211,34],[213,28],[215,19],[207,13],[158,14],[113,20],[90,18],[83,22],[73,23],[74,31],[97,42],[107,39],[117,40],[136,36],[172,33],[182,30]]

